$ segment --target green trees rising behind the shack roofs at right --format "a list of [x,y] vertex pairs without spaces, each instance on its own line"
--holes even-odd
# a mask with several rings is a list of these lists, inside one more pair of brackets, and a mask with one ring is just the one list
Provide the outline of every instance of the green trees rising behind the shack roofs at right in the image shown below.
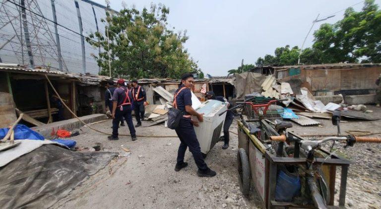
[[[344,18],[335,24],[322,24],[314,32],[312,48],[304,49],[303,64],[338,62],[381,62],[381,10],[374,0],[366,0],[361,11],[347,8]],[[277,48],[275,56],[259,57],[257,66],[268,64],[294,65],[299,49]]]

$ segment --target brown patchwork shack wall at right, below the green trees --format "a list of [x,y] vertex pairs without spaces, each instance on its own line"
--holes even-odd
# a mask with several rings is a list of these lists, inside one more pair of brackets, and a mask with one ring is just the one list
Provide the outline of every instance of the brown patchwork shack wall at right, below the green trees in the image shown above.
[[277,78],[281,81],[300,78],[303,82],[302,86],[318,93],[320,91],[374,90],[377,88],[375,82],[380,73],[380,66],[351,69],[289,68],[277,70]]

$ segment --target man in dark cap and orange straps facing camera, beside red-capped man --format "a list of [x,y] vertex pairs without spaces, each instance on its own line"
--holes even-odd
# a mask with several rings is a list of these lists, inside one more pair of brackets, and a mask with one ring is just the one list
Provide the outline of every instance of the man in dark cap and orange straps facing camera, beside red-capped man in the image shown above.
[[141,120],[144,120],[144,106],[147,105],[147,97],[145,96],[145,91],[143,87],[137,85],[137,80],[132,80],[133,106],[135,110],[135,118],[137,124],[135,127],[141,126]]

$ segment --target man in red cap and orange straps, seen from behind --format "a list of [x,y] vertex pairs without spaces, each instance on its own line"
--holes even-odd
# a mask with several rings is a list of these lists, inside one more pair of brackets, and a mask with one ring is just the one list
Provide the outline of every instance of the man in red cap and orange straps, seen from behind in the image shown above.
[[125,89],[125,80],[119,79],[117,82],[117,89],[113,94],[113,135],[109,136],[109,140],[118,140],[118,128],[119,121],[123,117],[126,118],[126,122],[128,125],[129,133],[131,135],[132,141],[136,140],[135,128],[132,123],[132,115],[131,115],[131,100],[132,95],[129,91]]

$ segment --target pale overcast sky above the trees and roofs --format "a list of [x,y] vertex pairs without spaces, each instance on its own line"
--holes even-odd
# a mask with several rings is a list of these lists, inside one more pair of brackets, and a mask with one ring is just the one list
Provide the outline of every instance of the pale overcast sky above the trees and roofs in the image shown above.
[[[105,0],[94,0],[105,4]],[[170,8],[168,22],[175,31],[187,30],[189,40],[185,48],[198,60],[204,73],[226,75],[245,64],[254,64],[266,53],[274,54],[277,47],[302,46],[312,21],[335,13],[324,22],[342,19],[344,9],[361,0],[125,0],[141,10],[151,2]],[[381,0],[376,0],[381,4]],[[361,2],[353,8],[359,11]],[[122,0],[111,0],[115,10],[122,8]],[[340,11],[343,10],[343,11]],[[338,12],[340,11],[340,12]],[[338,12],[338,13],[336,13]],[[319,18],[320,19],[320,18]],[[315,24],[304,48],[311,47]]]

